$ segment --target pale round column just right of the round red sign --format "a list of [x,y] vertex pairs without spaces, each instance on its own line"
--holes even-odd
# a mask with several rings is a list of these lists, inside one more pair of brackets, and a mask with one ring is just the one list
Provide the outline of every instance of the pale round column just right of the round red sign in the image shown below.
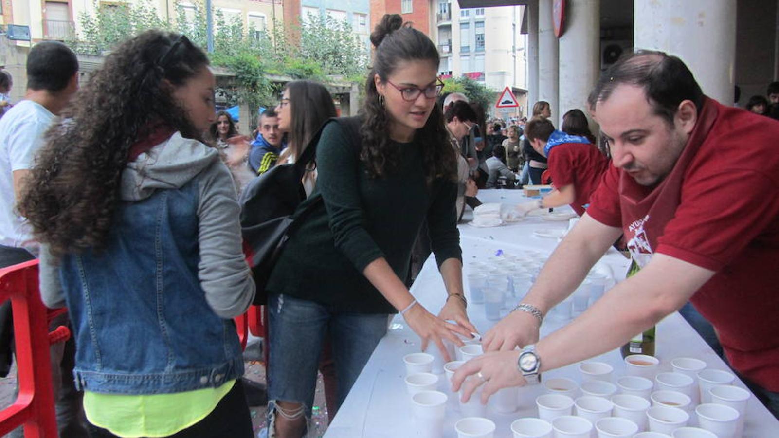
[[560,37],[560,111],[552,113],[562,125],[562,115],[573,108],[587,114],[587,95],[600,73],[601,0],[568,0],[565,34]]

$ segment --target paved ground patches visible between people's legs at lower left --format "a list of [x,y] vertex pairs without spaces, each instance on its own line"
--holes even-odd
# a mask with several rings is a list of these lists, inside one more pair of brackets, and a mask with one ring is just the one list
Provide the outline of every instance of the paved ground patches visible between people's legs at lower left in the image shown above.
[[[247,358],[252,357],[251,354]],[[265,383],[265,366],[263,362],[247,361],[245,376],[256,382]],[[16,366],[11,370],[8,377],[0,379],[0,409],[9,406],[14,401],[13,390],[16,387]],[[266,406],[251,407],[252,424],[254,425],[255,435],[265,427]],[[325,406],[325,394],[323,392],[322,376],[316,383],[316,394],[314,398],[314,408],[312,419],[316,426],[316,436],[323,436],[327,429],[327,409]]]

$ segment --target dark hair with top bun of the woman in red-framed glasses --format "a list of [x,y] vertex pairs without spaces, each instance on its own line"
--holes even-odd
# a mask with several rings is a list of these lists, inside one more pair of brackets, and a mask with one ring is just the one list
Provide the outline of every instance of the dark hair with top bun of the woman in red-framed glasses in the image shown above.
[[[360,129],[362,150],[360,159],[368,169],[368,175],[374,178],[384,177],[397,168],[401,150],[391,147],[390,129],[386,110],[379,102],[374,76],[378,75],[382,83],[392,75],[398,65],[404,61],[428,61],[438,68],[440,58],[438,49],[419,30],[403,24],[397,14],[386,14],[381,23],[375,26],[371,42],[376,48],[373,68],[365,81],[365,104],[361,108],[363,122]],[[443,122],[441,108],[436,104],[425,122],[417,129],[414,140],[423,145],[422,161],[428,183],[435,178],[456,178],[456,155],[449,144],[448,133]]]

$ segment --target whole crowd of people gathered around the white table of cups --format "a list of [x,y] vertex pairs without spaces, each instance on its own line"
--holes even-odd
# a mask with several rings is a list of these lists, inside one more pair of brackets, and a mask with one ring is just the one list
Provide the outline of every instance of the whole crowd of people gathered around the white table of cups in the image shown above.
[[[337,118],[326,87],[296,80],[251,138],[214,111],[208,58],[181,34],[130,38],[81,89],[76,55],[38,43],[26,97],[13,105],[0,71],[0,266],[37,258],[44,304],[68,309],[55,323],[70,324],[72,341],[51,347],[62,436],[254,436],[231,320],[256,295],[238,195],[308,148],[315,166],[298,207],[307,216],[263,291],[268,436],[311,429],[319,372],[332,419],[394,313],[422,350],[451,359],[444,341],[477,331],[463,288],[463,211],[478,207],[478,189],[548,182],[552,193],[516,214],[567,204],[581,219],[485,334],[486,354],[456,372],[455,390],[464,384],[467,398],[485,385],[486,401],[537,382],[689,301],[779,412],[777,122],[706,97],[679,58],[638,52],[590,95],[603,143],[580,109],[555,129],[545,101],[506,126],[462,94],[441,101],[439,52],[400,16],[384,16],[371,41],[358,116]],[[640,272],[539,340],[543,316],[618,240]],[[446,285],[442,309],[409,291],[414,260],[429,253]],[[0,341],[9,320],[5,303]],[[12,347],[0,342],[5,373]]]

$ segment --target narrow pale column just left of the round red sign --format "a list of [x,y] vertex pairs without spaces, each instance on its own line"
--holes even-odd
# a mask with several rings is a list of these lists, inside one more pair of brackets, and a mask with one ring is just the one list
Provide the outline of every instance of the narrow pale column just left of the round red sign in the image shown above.
[[[549,102],[552,120],[559,117],[558,41],[552,23],[552,0],[538,0],[538,101]],[[530,101],[532,110],[535,101]]]

